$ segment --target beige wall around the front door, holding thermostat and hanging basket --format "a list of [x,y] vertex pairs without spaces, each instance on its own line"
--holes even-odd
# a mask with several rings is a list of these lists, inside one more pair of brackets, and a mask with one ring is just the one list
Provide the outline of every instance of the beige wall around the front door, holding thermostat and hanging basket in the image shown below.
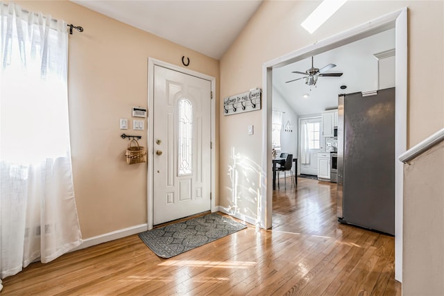
[[[69,37],[71,153],[83,238],[146,223],[147,166],[126,164],[128,140],[119,136],[139,134],[147,145],[146,130],[132,130],[130,108],[148,107],[148,57],[182,66],[185,55],[188,69],[218,84],[219,61],[69,1],[15,2],[85,29]],[[131,129],[120,130],[120,118]]]

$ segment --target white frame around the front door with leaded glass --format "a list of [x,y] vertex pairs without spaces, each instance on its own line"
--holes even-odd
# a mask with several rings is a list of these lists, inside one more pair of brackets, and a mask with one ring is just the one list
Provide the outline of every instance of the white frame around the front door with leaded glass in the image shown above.
[[[153,110],[154,110],[154,102],[153,102],[153,98],[154,98],[154,67],[155,66],[160,66],[160,67],[164,67],[167,69],[170,69],[172,71],[178,71],[180,73],[185,73],[191,76],[195,76],[197,78],[202,78],[205,80],[208,80],[211,82],[211,92],[212,92],[212,98],[211,98],[211,114],[210,114],[210,121],[211,121],[211,141],[212,141],[212,145],[214,146],[214,143],[216,141],[216,120],[215,120],[215,115],[216,115],[216,78],[212,77],[212,76],[208,76],[206,74],[203,73],[199,73],[196,71],[192,71],[189,69],[185,69],[182,67],[178,67],[176,65],[173,64],[169,64],[167,62],[162,62],[161,60],[156,60],[154,58],[148,58],[148,129],[146,130],[146,138],[147,138],[147,147],[148,147],[148,171],[146,174],[146,178],[147,178],[147,188],[146,188],[146,192],[147,192],[147,214],[146,214],[146,218],[147,218],[147,224],[148,224],[148,230],[149,229],[153,229],[153,146],[154,146],[154,139],[153,139],[153,132],[151,132],[153,130],[154,127],[154,120],[153,120]],[[215,211],[216,206],[215,206],[215,200],[216,200],[216,192],[215,192],[215,188],[216,188],[216,180],[215,180],[215,176],[216,176],[216,149],[214,147],[211,148],[211,164],[210,164],[210,172],[211,172],[211,177],[210,177],[210,194],[211,194],[211,200],[210,200],[210,210],[212,212]]]

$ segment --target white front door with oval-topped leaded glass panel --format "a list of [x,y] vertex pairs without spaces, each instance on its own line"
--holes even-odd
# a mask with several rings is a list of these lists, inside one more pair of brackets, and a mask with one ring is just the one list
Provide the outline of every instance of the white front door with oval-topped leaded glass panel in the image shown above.
[[210,210],[211,82],[154,66],[153,225]]

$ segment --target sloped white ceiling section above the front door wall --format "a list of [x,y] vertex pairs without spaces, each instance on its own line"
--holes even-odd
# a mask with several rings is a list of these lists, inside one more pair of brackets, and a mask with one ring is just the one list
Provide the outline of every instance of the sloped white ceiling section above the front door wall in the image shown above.
[[71,0],[103,15],[220,60],[262,0]]

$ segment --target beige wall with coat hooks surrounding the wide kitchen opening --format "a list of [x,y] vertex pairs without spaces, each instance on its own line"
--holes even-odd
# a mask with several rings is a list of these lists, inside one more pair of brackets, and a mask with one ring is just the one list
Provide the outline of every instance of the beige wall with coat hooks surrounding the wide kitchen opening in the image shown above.
[[[310,35],[300,23],[318,3],[264,1],[221,59],[221,98],[263,87],[264,62],[408,7],[407,146],[441,129],[444,126],[444,2],[348,1]],[[430,67],[435,70],[427,75]],[[248,136],[247,126],[251,124],[255,125],[255,134]],[[242,166],[236,159],[248,159],[254,168],[260,166],[265,153],[262,151],[262,112],[221,116],[220,130],[220,204],[226,209],[236,207],[238,214],[254,215],[260,190],[257,169]],[[233,157],[232,151],[238,153],[237,157]],[[237,179],[233,181],[232,175]]]

